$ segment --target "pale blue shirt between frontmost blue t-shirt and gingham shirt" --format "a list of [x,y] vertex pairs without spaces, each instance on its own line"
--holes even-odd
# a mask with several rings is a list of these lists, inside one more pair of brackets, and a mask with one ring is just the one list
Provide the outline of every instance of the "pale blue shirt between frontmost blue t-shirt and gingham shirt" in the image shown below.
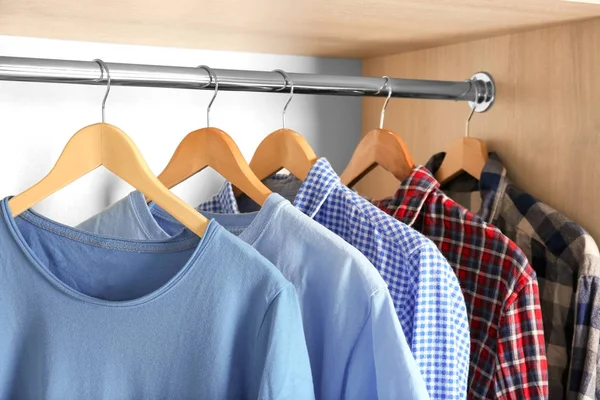
[[[260,211],[208,214],[296,287],[318,399],[428,399],[387,286],[354,247],[278,194]],[[191,232],[139,192],[79,226],[100,234],[181,240]]]

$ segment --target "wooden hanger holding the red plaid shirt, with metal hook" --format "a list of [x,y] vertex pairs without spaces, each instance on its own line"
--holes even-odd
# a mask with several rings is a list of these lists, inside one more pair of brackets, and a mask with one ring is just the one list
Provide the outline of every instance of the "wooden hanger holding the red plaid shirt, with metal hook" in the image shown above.
[[387,129],[383,129],[385,109],[392,97],[392,87],[389,85],[390,78],[383,77],[385,83],[380,89],[388,87],[388,96],[381,109],[379,129],[367,133],[360,141],[348,166],[341,175],[341,180],[348,187],[354,186],[376,165],[380,165],[389,171],[399,181],[404,180],[415,167],[410,153],[400,136]]

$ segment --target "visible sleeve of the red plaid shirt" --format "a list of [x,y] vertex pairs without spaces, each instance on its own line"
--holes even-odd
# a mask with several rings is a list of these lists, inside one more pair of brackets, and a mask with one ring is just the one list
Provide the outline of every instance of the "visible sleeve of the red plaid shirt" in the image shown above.
[[496,398],[547,399],[548,364],[535,277],[508,299],[500,319]]

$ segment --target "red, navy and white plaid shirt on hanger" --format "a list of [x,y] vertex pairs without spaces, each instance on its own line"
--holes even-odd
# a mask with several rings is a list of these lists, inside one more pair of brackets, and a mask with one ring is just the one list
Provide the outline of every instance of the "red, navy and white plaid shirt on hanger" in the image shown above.
[[415,168],[383,211],[431,239],[454,268],[471,328],[470,399],[546,399],[538,282],[523,252]]

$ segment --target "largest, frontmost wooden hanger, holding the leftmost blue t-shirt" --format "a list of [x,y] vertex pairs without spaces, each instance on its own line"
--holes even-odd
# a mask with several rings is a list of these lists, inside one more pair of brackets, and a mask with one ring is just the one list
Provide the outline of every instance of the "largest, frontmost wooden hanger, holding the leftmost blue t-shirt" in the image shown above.
[[208,219],[176,197],[152,174],[133,141],[119,128],[104,122],[106,98],[110,92],[110,72],[102,60],[107,86],[102,101],[102,123],[79,130],[67,143],[52,170],[41,181],[8,201],[13,216],[33,207],[54,192],[100,166],[117,175],[163,207],[188,229],[202,236]]

